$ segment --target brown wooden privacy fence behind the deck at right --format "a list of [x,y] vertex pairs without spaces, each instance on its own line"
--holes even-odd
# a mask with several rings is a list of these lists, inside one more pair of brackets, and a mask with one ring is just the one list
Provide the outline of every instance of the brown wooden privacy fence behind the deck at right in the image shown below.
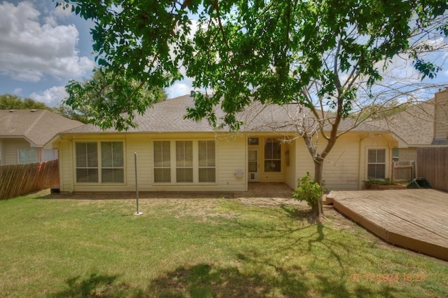
[[417,177],[433,189],[448,191],[448,147],[417,148]]

